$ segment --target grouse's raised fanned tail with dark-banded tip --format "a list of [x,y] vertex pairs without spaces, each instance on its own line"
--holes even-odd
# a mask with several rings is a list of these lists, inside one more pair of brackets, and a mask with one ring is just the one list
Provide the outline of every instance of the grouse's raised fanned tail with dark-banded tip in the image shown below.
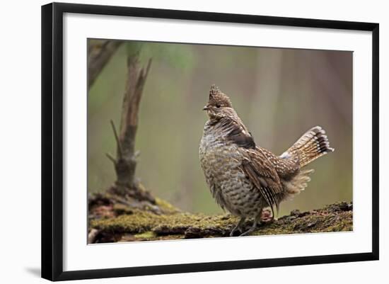
[[329,152],[334,152],[334,148],[330,147],[325,131],[322,127],[315,126],[281,154],[281,157],[298,157],[300,166],[303,167]]

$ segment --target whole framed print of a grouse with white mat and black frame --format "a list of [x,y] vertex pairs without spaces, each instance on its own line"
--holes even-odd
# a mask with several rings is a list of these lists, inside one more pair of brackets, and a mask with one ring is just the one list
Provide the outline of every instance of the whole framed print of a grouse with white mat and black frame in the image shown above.
[[378,23],[42,6],[42,277],[378,259],[378,56]]

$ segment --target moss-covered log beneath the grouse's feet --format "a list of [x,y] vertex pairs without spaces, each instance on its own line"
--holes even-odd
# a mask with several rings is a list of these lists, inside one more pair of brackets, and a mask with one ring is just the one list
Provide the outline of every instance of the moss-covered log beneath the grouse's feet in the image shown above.
[[[228,237],[238,222],[238,217],[230,214],[181,212],[158,198],[151,206],[136,202],[136,206],[103,204],[102,195],[99,198],[100,203],[90,206],[90,243]],[[352,231],[352,215],[352,203],[345,202],[308,212],[294,210],[278,220],[262,223],[250,235]],[[245,223],[247,229],[251,225],[250,220]]]

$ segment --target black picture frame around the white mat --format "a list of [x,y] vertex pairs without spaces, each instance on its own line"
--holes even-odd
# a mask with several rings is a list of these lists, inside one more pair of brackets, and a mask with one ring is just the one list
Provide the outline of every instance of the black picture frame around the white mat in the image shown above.
[[[215,21],[261,25],[284,25],[308,28],[366,30],[372,32],[372,103],[373,103],[373,173],[372,173],[372,251],[361,254],[289,257],[282,259],[253,259],[187,263],[178,265],[109,268],[86,271],[63,270],[63,15],[85,13],[144,18]],[[97,6],[85,4],[47,4],[42,6],[42,278],[48,280],[75,280],[143,276],[198,271],[262,268],[271,266],[298,266],[318,263],[378,260],[378,85],[379,85],[379,25],[349,21],[328,21],[308,18],[238,15],[197,11],[174,11],[154,8]]]

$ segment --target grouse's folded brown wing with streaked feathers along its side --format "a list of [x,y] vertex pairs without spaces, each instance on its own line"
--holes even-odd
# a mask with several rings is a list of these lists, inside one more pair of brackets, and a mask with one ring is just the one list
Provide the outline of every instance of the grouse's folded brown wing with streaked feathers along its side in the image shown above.
[[274,216],[273,206],[276,206],[278,212],[282,195],[281,181],[277,171],[272,161],[258,147],[245,149],[244,155],[243,172],[265,198],[269,207],[272,208]]

